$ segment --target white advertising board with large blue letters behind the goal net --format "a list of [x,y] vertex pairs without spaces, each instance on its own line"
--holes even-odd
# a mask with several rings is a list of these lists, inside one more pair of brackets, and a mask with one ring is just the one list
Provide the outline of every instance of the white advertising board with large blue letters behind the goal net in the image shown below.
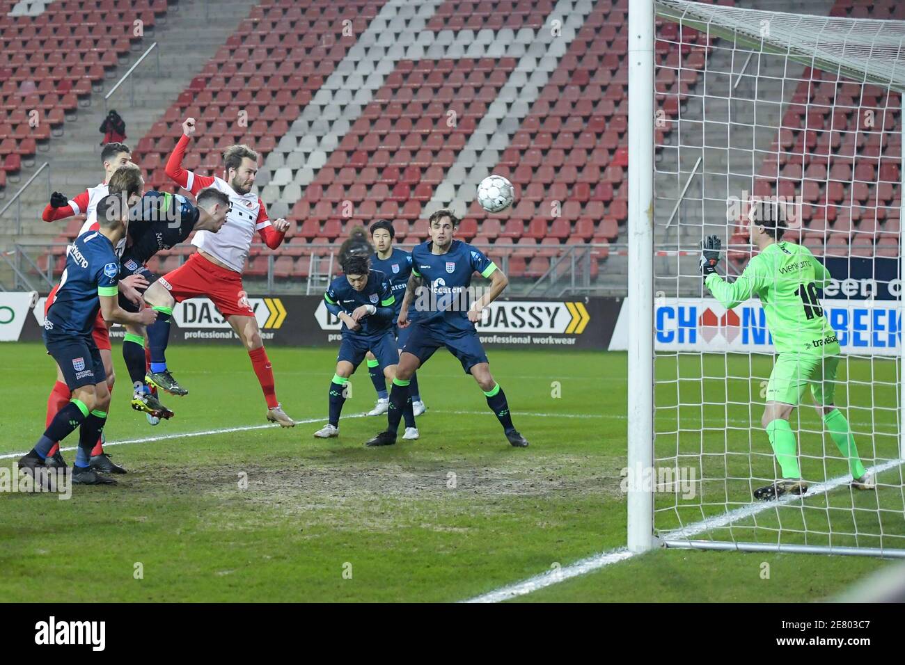
[[[898,356],[901,311],[895,300],[824,299],[824,315],[836,332],[843,353]],[[622,311],[610,350],[628,348],[631,303]],[[761,352],[773,351],[767,317],[757,300],[726,309],[715,299],[658,299],[653,309],[654,349],[657,351]]]

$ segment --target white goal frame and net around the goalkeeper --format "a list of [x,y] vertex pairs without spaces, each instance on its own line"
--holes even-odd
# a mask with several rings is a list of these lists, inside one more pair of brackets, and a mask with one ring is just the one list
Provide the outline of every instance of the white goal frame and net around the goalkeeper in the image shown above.
[[[905,556],[905,21],[655,0],[630,33],[630,547]],[[762,422],[778,358],[766,303],[728,309],[700,275],[711,234],[719,274],[744,271],[750,218],[777,220],[833,278],[807,285],[800,317],[838,338],[843,420],[805,389],[794,463]],[[789,468],[803,496],[755,499]],[[853,486],[864,473],[875,489]]]

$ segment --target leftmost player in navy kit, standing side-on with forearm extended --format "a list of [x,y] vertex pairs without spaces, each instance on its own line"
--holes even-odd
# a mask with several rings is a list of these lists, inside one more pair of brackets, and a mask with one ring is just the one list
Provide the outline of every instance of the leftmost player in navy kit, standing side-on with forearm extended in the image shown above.
[[33,449],[18,462],[32,472],[44,467],[51,448],[79,428],[79,449],[72,468],[72,481],[79,484],[116,484],[90,468],[91,449],[97,442],[110,405],[100,351],[91,336],[98,311],[105,321],[148,325],[157,318],[153,309],[138,314],[119,309],[117,282],[119,257],[114,247],[127,232],[129,214],[108,214],[118,205],[115,196],[97,204],[97,231],[82,233],[66,257],[56,298],[44,319],[44,346],[53,356],[72,393],[69,404],[53,417]]

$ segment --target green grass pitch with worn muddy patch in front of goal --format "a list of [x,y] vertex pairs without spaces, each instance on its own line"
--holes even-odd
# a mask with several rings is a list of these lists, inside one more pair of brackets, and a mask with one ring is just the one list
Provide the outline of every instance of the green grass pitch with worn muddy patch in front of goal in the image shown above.
[[[174,345],[170,365],[190,394],[167,396],[176,418],[152,428],[129,408],[128,375],[114,347],[118,387],[106,434],[125,442],[108,451],[129,475],[115,488],[76,487],[66,501],[0,494],[0,597],[459,601],[624,546],[624,354],[491,349],[491,370],[531,443],[519,450],[472,378],[439,352],[418,376],[429,407],[418,423],[421,440],[372,450],[362,443],[386,421],[360,415],[375,397],[367,368],[352,378],[340,437],[322,441],[311,434],[326,422],[336,350],[268,353],[286,411],[309,423],[265,426],[262,394],[238,345]],[[0,366],[0,454],[8,455],[27,451],[43,432],[54,371],[37,344],[0,346]],[[759,390],[757,379],[748,384]],[[721,432],[719,446],[756,446],[757,464],[767,464],[766,436],[740,426]],[[75,443],[73,434],[63,445]],[[64,454],[71,462],[74,453]],[[668,454],[658,448],[658,458]],[[835,475],[844,471],[844,462],[835,466]],[[733,487],[722,503],[748,501],[743,495]],[[698,513],[701,505],[704,513],[724,509],[712,492],[703,496]],[[657,500],[662,507],[674,497]],[[772,583],[761,578],[764,561],[772,562]],[[781,589],[786,600],[818,600],[881,565],[658,552],[524,599],[769,602]]]

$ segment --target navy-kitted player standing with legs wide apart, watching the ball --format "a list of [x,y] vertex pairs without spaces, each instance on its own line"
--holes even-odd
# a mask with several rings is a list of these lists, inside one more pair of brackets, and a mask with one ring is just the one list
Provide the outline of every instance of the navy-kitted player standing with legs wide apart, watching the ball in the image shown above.
[[[475,322],[481,320],[484,308],[493,302],[509,280],[496,264],[484,256],[477,247],[453,240],[459,219],[448,210],[438,210],[430,216],[431,240],[412,250],[412,276],[408,280],[402,309],[396,320],[399,328],[412,326],[408,341],[403,347],[393,389],[390,391],[390,408],[387,412],[388,427],[368,440],[367,446],[392,445],[399,429],[401,407],[408,398],[408,385],[414,371],[433,356],[440,347],[446,347],[462,363],[462,369],[471,374],[487,397],[487,405],[503,426],[509,442],[524,448],[528,441],[512,424],[506,394],[491,375],[491,367],[478,338]],[[468,287],[472,274],[491,280],[491,288],[481,298],[472,301]],[[413,306],[417,317],[412,322],[409,309]]]

